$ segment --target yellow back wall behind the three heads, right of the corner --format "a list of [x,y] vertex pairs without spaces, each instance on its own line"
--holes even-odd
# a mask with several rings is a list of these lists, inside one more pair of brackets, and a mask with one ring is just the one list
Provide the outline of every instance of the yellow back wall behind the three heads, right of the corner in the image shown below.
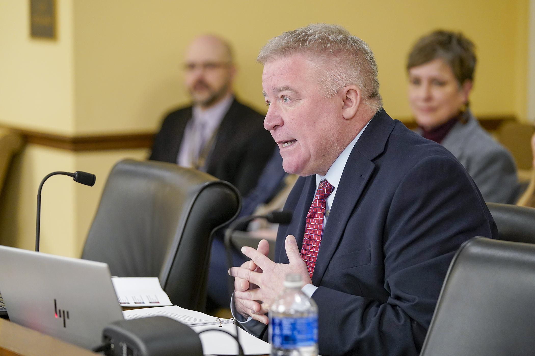
[[155,130],[165,111],[185,104],[182,56],[192,37],[230,39],[239,96],[265,111],[256,55],[269,38],[311,22],[345,26],[376,53],[385,109],[411,117],[404,64],[419,36],[462,30],[479,58],[472,107],[480,115],[525,117],[527,0],[74,2],[76,130]]

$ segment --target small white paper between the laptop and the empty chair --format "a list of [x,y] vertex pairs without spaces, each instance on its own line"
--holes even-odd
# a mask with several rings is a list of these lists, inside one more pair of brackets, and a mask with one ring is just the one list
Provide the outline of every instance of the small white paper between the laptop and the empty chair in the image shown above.
[[121,306],[173,305],[158,277],[112,277],[111,282]]

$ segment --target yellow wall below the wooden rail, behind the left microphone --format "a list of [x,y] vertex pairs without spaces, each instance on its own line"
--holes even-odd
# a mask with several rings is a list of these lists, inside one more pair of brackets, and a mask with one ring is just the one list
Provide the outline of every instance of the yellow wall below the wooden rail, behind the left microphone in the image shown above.
[[124,158],[145,159],[147,150],[70,152],[29,144],[12,163],[0,200],[0,244],[33,250],[37,187],[53,171],[94,173],[93,187],[55,175],[41,194],[41,251],[79,257],[111,167]]

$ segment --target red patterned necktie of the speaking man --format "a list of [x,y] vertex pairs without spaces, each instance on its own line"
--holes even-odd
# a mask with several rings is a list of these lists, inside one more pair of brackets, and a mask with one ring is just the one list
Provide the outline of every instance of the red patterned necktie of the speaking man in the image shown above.
[[303,245],[301,247],[301,257],[308,267],[310,278],[314,273],[316,258],[318,257],[319,244],[322,242],[323,234],[323,214],[325,213],[327,197],[332,193],[334,187],[326,180],[319,183],[318,191],[307,214],[307,227],[304,230]]

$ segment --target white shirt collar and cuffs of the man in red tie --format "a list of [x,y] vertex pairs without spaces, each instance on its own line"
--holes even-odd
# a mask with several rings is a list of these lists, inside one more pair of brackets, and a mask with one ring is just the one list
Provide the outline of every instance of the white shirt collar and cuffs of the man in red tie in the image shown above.
[[[371,120],[370,120],[371,121]],[[327,171],[327,173],[322,176],[322,175],[319,175],[319,174],[316,174],[316,191],[318,190],[318,186],[319,186],[319,183],[321,181],[323,181],[324,179],[326,179],[329,183],[331,183],[331,185],[333,186],[333,191],[331,192],[331,194],[327,197],[326,200],[326,207],[325,207],[325,214],[323,215],[324,218],[323,218],[323,226],[325,227],[325,223],[327,222],[327,219],[328,219],[328,211],[331,210],[331,207],[333,205],[333,202],[334,202],[334,196],[336,195],[336,192],[337,192],[337,188],[338,188],[338,185],[340,184],[340,179],[342,177],[342,173],[343,173],[343,169],[346,167],[346,163],[347,163],[347,159],[349,158],[349,154],[351,153],[351,151],[353,150],[353,148],[355,147],[355,144],[357,143],[358,139],[362,136],[362,133],[364,132],[364,130],[366,129],[366,127],[368,127],[368,124],[370,123],[370,121],[368,121],[368,123],[366,123],[366,125],[364,126],[364,128],[357,134],[357,136],[355,138],[353,138],[353,141],[351,141],[347,147],[342,151],[342,153],[340,153],[340,156],[338,156],[338,158],[333,162],[333,164],[331,165],[331,167],[329,168],[329,170]],[[309,298],[312,297],[312,295],[314,294],[314,292],[316,291],[316,289],[318,289],[318,287],[316,287],[314,284],[305,284],[303,286],[303,288],[301,288],[301,291]],[[232,296],[232,298],[234,298],[234,296]],[[241,316],[240,314],[236,315],[237,313],[235,313],[234,311],[234,301],[231,300],[231,309],[232,309],[232,315],[235,315],[236,316],[236,320],[242,324],[246,329],[251,329],[251,331],[253,331],[253,334],[254,332],[256,331],[259,331],[263,325],[257,325],[257,326],[254,326],[253,324],[251,324],[250,322],[253,320],[253,318],[251,316],[249,316],[249,318],[247,318],[247,320],[243,321],[243,316]],[[242,320],[240,320],[242,319]],[[254,329],[258,329],[258,330],[254,330]],[[249,330],[248,330],[249,331]]]

